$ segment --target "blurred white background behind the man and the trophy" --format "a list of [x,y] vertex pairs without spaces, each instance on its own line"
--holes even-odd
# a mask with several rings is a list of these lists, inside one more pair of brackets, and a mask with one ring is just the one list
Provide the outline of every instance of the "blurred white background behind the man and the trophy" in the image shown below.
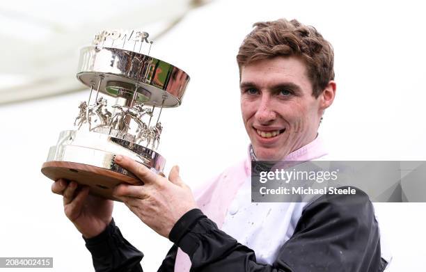
[[[315,26],[334,47],[338,91],[320,127],[331,158],[426,159],[420,1],[1,1],[0,257],[54,257],[54,269],[38,271],[92,271],[81,235],[40,168],[88,99],[77,61],[95,33],[147,31],[150,55],[191,77],[182,106],[161,113],[159,153],[167,173],[179,164],[196,188],[246,156],[235,56],[254,22],[280,17]],[[393,253],[389,271],[425,271],[426,204],[375,207]],[[157,271],[171,243],[121,203],[113,216],[145,254],[144,271]]]

